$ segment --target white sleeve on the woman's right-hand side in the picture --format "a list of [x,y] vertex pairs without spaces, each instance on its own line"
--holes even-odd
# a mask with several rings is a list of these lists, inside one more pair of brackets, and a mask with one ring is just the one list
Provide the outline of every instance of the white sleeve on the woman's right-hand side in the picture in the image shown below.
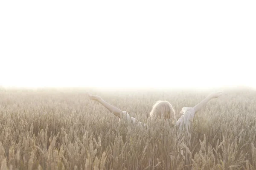
[[179,130],[183,130],[183,126],[185,125],[186,131],[189,133],[190,136],[190,125],[191,125],[191,119],[195,116],[195,110],[194,108],[182,108],[183,115],[180,117],[180,119],[177,120],[176,125],[179,127]]

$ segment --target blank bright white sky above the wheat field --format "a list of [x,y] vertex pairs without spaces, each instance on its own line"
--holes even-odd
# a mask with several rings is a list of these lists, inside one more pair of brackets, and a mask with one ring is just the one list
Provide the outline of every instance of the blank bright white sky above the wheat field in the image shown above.
[[255,9],[255,0],[1,0],[0,85],[256,87]]

